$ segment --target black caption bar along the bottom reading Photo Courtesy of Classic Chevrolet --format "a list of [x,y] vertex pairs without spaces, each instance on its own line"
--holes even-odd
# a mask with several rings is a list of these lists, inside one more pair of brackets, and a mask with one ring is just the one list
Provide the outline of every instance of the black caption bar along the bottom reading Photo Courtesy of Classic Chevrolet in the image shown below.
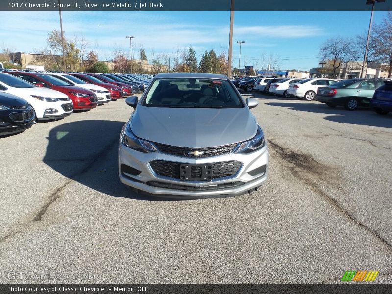
[[1,294],[391,294],[392,284],[0,284]]

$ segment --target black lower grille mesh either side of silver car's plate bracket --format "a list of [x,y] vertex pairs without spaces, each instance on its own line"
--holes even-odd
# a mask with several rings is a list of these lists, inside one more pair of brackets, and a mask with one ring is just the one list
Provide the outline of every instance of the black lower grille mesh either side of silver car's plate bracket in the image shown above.
[[[152,170],[160,175],[165,177],[170,177],[173,179],[180,179],[180,165],[184,163],[165,161],[165,160],[154,160],[150,162],[150,166]],[[238,170],[241,168],[242,163],[230,160],[230,161],[222,161],[222,162],[214,162],[208,163],[208,165],[212,166],[212,179],[225,178],[229,176],[235,175]],[[201,168],[200,168],[201,170]],[[200,172],[195,167],[195,174]]]

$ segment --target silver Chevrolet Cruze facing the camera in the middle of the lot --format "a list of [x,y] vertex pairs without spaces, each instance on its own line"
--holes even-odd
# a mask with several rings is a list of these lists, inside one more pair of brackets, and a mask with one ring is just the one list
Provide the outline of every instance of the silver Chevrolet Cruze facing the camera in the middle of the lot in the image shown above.
[[226,76],[158,74],[120,134],[124,184],[155,196],[204,198],[256,190],[266,179],[264,133]]

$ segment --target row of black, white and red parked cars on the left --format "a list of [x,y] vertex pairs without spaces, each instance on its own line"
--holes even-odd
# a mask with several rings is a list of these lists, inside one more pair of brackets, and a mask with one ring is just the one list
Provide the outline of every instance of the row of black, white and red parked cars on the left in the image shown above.
[[[144,91],[134,75],[5,71],[0,73],[0,136]],[[142,78],[142,77],[140,77]],[[135,90],[135,91],[133,91]]]

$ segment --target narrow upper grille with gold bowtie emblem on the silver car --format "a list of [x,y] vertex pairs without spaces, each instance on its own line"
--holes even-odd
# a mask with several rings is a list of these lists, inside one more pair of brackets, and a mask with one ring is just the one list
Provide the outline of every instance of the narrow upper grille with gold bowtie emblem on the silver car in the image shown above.
[[238,143],[235,143],[231,145],[208,147],[208,148],[188,148],[188,147],[165,145],[161,143],[154,143],[154,144],[162,153],[167,153],[167,154],[172,154],[177,156],[196,157],[195,153],[196,151],[198,151],[199,155],[197,156],[197,158],[229,154],[233,152],[234,148],[237,147],[238,145]]

